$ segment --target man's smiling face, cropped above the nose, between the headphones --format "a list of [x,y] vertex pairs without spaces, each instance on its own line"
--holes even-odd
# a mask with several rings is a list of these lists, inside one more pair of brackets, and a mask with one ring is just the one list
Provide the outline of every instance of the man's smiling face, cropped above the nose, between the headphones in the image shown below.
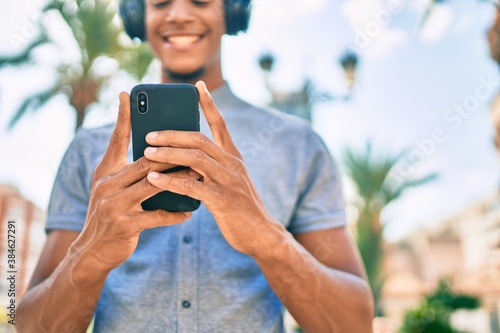
[[162,66],[177,74],[219,66],[223,0],[145,0],[146,31]]

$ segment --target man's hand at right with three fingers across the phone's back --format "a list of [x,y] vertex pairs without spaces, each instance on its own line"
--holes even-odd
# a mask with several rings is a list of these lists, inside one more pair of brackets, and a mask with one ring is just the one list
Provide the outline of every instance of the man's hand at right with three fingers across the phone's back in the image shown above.
[[262,242],[270,240],[266,237],[275,235],[269,231],[273,227],[282,228],[281,224],[270,215],[257,194],[205,84],[198,82],[196,88],[215,142],[198,132],[152,132],[146,141],[158,148],[147,148],[144,156],[150,161],[189,166],[202,178],[181,179],[150,172],[147,179],[156,187],[202,201],[231,246],[257,255]]

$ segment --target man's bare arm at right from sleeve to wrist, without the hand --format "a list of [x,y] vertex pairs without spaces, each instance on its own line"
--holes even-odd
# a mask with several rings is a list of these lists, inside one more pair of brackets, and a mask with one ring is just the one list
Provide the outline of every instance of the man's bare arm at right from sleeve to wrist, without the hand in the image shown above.
[[278,229],[275,239],[254,258],[306,332],[372,331],[371,291],[346,228],[308,232],[296,240]]

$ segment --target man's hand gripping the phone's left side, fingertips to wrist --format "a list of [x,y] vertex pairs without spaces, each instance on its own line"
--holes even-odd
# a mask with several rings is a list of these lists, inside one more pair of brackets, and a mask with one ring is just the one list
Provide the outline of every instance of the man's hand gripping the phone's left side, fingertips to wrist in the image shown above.
[[[90,267],[102,268],[103,273],[115,268],[132,255],[141,231],[178,224],[191,215],[142,209],[142,201],[161,191],[151,185],[146,175],[151,171],[162,171],[174,165],[152,162],[144,157],[128,164],[129,143],[130,101],[127,93],[121,93],[116,127],[93,174],[85,225],[73,244],[74,249],[85,253],[84,260],[90,260]],[[182,170],[172,173],[170,177],[187,180],[199,175]]]

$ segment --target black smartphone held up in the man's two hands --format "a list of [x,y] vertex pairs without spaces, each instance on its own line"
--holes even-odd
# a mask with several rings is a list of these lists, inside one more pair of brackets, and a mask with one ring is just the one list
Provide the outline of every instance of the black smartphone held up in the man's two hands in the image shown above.
[[[139,84],[130,92],[132,151],[134,161],[144,156],[150,145],[146,135],[153,131],[200,131],[198,90],[191,84]],[[183,166],[164,170],[169,173]],[[144,210],[194,211],[200,201],[169,191],[160,192],[141,203]]]

